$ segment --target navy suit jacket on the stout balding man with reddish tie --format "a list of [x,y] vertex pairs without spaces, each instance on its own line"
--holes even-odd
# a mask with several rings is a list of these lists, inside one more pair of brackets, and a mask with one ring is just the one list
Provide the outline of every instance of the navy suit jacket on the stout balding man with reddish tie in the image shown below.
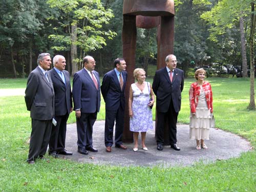
[[81,113],[99,112],[100,108],[100,80],[99,73],[93,71],[98,82],[96,89],[93,79],[86,69],[82,69],[74,74],[73,79],[73,101],[74,110],[80,109]]

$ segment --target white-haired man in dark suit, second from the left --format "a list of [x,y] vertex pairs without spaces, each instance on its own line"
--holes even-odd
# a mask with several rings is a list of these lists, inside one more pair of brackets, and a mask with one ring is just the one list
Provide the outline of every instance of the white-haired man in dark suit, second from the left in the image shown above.
[[65,149],[67,121],[73,110],[72,94],[70,86],[70,74],[65,70],[66,59],[62,55],[53,57],[54,68],[49,71],[54,87],[54,119],[56,126],[52,126],[49,142],[49,155],[58,157],[61,155],[72,155]]

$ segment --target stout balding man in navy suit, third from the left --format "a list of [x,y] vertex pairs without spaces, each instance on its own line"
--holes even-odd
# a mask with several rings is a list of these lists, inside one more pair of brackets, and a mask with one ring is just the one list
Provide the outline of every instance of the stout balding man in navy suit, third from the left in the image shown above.
[[73,101],[76,112],[78,153],[88,155],[88,151],[98,152],[93,146],[93,124],[100,108],[99,73],[94,71],[95,60],[91,56],[83,58],[84,68],[74,74]]

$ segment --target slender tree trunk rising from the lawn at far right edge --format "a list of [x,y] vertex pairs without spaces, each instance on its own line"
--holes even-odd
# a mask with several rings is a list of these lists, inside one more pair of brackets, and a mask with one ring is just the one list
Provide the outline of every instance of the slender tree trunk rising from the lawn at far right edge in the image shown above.
[[254,99],[254,48],[253,48],[253,37],[255,31],[255,21],[256,15],[254,14],[254,3],[251,3],[251,24],[250,24],[250,103],[249,103],[249,110],[255,109],[255,99]]

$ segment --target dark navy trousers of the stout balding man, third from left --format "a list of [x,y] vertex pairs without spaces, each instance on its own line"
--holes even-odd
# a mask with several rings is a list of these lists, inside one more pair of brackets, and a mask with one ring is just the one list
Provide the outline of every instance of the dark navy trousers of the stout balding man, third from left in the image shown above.
[[85,149],[93,145],[93,125],[97,119],[95,113],[81,113],[80,118],[76,118],[77,146]]

